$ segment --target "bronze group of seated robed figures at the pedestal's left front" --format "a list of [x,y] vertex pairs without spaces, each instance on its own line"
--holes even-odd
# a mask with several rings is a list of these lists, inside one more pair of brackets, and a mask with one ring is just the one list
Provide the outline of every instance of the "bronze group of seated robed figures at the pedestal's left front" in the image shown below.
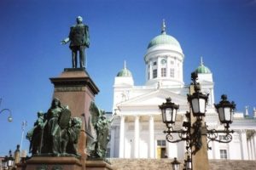
[[68,106],[53,99],[46,113],[38,112],[38,121],[26,135],[32,156],[79,156],[77,144],[82,120],[71,117]]

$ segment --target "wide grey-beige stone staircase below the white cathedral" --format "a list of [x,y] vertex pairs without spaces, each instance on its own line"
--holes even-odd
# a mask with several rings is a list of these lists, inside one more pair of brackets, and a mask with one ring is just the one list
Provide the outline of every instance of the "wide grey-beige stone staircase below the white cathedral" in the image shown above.
[[[115,170],[172,170],[172,159],[119,159],[109,158]],[[181,164],[181,166],[183,166]],[[183,167],[180,167],[183,169]],[[210,160],[210,170],[253,170],[256,161]]]

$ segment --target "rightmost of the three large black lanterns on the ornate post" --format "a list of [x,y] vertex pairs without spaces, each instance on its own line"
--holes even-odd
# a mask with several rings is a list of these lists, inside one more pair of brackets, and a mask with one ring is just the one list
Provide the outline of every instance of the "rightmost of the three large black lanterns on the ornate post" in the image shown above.
[[219,121],[224,124],[224,127],[230,127],[230,123],[233,122],[233,115],[236,109],[236,104],[234,101],[230,103],[227,100],[227,95],[221,95],[221,101],[215,105],[215,108],[218,111]]

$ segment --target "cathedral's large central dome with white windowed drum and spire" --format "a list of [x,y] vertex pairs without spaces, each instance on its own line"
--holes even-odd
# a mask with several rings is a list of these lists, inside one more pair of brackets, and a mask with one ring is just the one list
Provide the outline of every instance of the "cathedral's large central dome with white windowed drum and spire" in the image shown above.
[[175,37],[166,34],[163,20],[160,35],[149,43],[144,56],[146,84],[156,87],[183,87],[183,50]]

